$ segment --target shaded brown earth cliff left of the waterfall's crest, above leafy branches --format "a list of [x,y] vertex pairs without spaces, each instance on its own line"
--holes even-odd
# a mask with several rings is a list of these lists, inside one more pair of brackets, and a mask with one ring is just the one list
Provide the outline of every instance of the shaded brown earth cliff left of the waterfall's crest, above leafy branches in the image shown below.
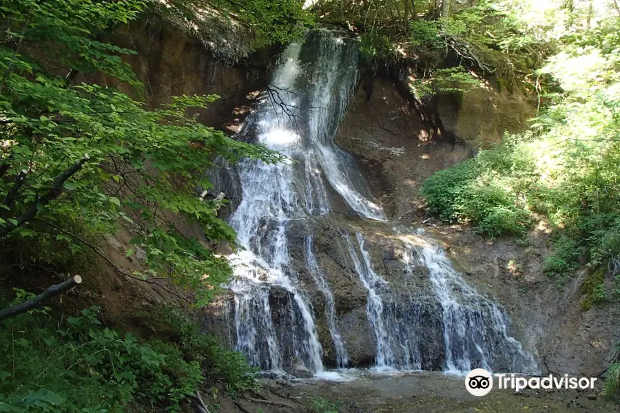
[[[183,94],[218,95],[220,98],[207,109],[193,112],[201,123],[229,134],[238,131],[251,112],[276,54],[260,50],[238,64],[225,63],[183,30],[151,21],[125,25],[110,41],[138,52],[126,60],[144,81],[150,107],[169,103],[172,96]],[[117,85],[110,79],[106,81]]]

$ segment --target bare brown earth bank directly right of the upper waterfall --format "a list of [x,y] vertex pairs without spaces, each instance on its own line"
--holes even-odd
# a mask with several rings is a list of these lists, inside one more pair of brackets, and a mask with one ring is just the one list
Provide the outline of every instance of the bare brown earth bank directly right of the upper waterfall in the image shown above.
[[354,153],[384,209],[399,218],[417,211],[425,178],[471,156],[470,150],[426,129],[389,78],[376,78],[370,96],[360,87],[336,142]]

